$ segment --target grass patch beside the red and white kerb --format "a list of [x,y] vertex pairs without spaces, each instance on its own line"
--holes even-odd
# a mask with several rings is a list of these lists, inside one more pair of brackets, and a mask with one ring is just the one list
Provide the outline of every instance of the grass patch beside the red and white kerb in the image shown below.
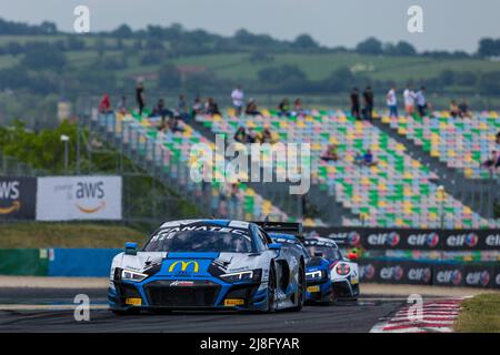
[[500,293],[488,293],[468,298],[456,323],[462,333],[500,333]]

